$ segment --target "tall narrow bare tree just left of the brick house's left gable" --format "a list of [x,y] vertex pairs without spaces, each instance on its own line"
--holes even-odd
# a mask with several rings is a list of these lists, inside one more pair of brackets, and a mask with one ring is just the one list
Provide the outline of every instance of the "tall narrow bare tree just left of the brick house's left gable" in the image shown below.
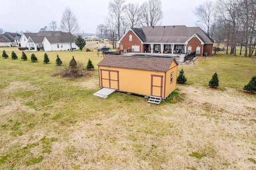
[[120,39],[120,27],[121,27],[121,16],[124,13],[126,6],[124,5],[125,0],[113,0],[108,4],[109,15],[112,18],[112,23],[117,29],[118,39]]

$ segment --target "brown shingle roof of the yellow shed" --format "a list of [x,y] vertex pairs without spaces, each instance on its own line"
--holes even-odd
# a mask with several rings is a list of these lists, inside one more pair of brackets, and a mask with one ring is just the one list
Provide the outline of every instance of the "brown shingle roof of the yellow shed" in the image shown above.
[[98,66],[167,72],[173,58],[107,55]]

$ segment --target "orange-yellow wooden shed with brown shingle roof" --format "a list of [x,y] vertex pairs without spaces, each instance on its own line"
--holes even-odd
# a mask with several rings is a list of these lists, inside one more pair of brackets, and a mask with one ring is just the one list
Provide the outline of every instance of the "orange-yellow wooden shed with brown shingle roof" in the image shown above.
[[107,55],[97,64],[100,88],[166,99],[176,88],[173,58]]

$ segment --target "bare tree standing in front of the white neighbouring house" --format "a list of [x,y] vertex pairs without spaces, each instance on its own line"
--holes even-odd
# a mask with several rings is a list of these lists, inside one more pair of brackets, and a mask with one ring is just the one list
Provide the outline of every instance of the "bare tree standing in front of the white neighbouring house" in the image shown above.
[[70,51],[73,51],[72,43],[74,43],[76,40],[76,37],[74,36],[74,34],[78,32],[79,26],[78,26],[78,20],[76,19],[76,16],[74,16],[73,12],[68,7],[65,9],[65,11],[62,14],[60,30],[68,33],[68,34],[65,34],[66,42],[69,43],[70,45]]

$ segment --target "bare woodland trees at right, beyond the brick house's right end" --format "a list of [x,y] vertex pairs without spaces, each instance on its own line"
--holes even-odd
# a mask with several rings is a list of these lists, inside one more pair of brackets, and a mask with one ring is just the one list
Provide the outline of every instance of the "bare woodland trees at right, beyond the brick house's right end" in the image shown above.
[[[256,56],[256,1],[217,0],[196,6],[198,25],[217,44],[226,46],[226,54],[237,54],[237,47],[245,49],[244,56]],[[230,51],[228,51],[230,49]]]

